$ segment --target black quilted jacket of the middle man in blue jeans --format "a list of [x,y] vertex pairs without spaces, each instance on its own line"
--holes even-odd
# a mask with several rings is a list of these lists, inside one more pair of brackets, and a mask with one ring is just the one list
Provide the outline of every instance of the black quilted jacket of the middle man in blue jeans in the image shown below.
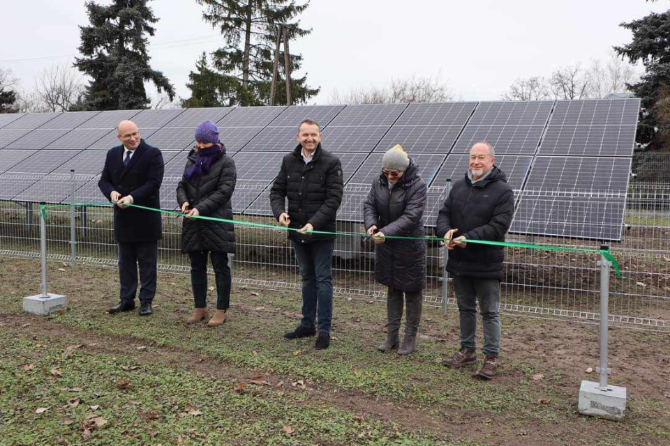
[[[291,228],[301,228],[311,223],[315,231],[335,231],[337,209],[342,201],[342,164],[338,157],[325,151],[319,144],[310,163],[302,159],[302,146],[281,160],[279,174],[270,189],[272,213],[279,219],[286,212]],[[288,197],[285,210],[284,197]],[[288,238],[299,243],[315,240],[332,240],[330,234],[302,235],[288,231]]]

